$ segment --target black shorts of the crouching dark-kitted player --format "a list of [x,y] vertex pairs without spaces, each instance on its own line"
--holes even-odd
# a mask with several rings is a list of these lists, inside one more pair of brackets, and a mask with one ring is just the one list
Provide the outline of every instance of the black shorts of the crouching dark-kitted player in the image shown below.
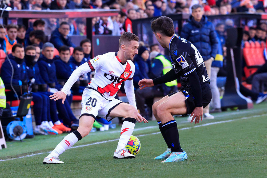
[[[178,93],[178,92],[182,92],[184,94],[184,96],[186,97],[185,104],[186,104],[187,113],[184,115],[191,114],[196,107],[195,106],[195,99],[194,99],[193,94],[191,93],[191,90],[188,88],[183,88],[182,90],[173,92],[173,93],[169,94],[168,96],[170,97],[173,94]],[[202,106],[203,106],[203,108],[205,108],[207,105],[209,105],[210,101],[211,101],[211,89],[207,89],[204,92],[202,92]]]

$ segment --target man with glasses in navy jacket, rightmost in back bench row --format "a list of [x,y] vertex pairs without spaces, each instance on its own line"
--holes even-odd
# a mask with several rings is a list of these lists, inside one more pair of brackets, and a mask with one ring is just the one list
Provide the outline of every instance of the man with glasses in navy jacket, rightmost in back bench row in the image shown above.
[[71,38],[68,37],[69,31],[70,25],[67,22],[61,22],[60,27],[52,32],[50,43],[57,49],[63,45],[75,48],[75,45],[71,42]]

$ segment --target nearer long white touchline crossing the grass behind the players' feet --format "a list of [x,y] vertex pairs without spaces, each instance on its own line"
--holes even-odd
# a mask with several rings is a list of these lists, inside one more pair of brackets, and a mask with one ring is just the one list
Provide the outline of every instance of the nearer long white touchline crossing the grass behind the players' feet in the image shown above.
[[[207,123],[207,124],[196,125],[196,126],[193,126],[193,127],[184,127],[184,128],[180,128],[178,130],[187,130],[187,129],[197,128],[197,127],[202,127],[202,126],[208,126],[208,125],[214,125],[214,124],[222,124],[222,123],[226,123],[226,122],[233,122],[233,121],[237,121],[237,120],[249,119],[249,118],[254,118],[254,117],[262,117],[262,116],[267,116],[267,114],[261,114],[261,115],[249,116],[249,117],[242,117],[242,118],[232,119],[232,120],[227,120],[227,121],[210,122],[210,123]],[[153,128],[153,127],[154,126],[151,126],[151,128]],[[135,130],[137,130],[137,129],[135,129]],[[137,135],[137,137],[143,137],[143,136],[148,136],[148,135],[155,135],[155,134],[159,134],[159,133],[160,132],[143,134],[143,135]],[[98,145],[98,144],[101,144],[101,143],[108,143],[108,142],[117,141],[117,140],[119,140],[119,139],[99,141],[99,142],[95,142],[95,143],[89,143],[89,144],[86,144],[86,145],[77,145],[77,146],[71,147],[70,149],[80,148],[80,147],[87,147],[87,146],[90,146],[90,145]],[[9,161],[9,160],[15,160],[15,159],[20,159],[20,158],[25,158],[25,157],[32,157],[32,156],[35,156],[35,155],[41,155],[41,154],[50,153],[50,152],[52,152],[52,151],[42,152],[42,153],[34,153],[32,155],[26,155],[26,156],[21,156],[21,157],[16,157],[16,158],[10,158],[10,159],[0,160],[0,161]]]

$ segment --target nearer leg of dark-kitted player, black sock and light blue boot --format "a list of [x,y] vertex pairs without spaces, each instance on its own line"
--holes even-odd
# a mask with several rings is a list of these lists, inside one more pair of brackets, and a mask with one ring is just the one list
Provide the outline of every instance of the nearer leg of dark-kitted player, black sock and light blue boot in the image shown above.
[[[189,95],[188,95],[189,96]],[[186,96],[177,92],[160,103],[156,112],[162,122],[162,132],[165,134],[168,147],[171,147],[171,154],[162,162],[183,161],[187,154],[180,147],[179,132],[173,115],[187,114]]]

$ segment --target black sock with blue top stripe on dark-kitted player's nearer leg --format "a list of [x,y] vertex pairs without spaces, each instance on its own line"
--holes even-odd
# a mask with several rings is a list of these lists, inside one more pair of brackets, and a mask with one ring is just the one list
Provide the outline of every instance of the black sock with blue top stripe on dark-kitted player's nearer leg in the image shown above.
[[165,131],[167,145],[170,145],[171,152],[182,152],[179,141],[179,132],[175,120],[168,121],[162,124],[163,132]]

